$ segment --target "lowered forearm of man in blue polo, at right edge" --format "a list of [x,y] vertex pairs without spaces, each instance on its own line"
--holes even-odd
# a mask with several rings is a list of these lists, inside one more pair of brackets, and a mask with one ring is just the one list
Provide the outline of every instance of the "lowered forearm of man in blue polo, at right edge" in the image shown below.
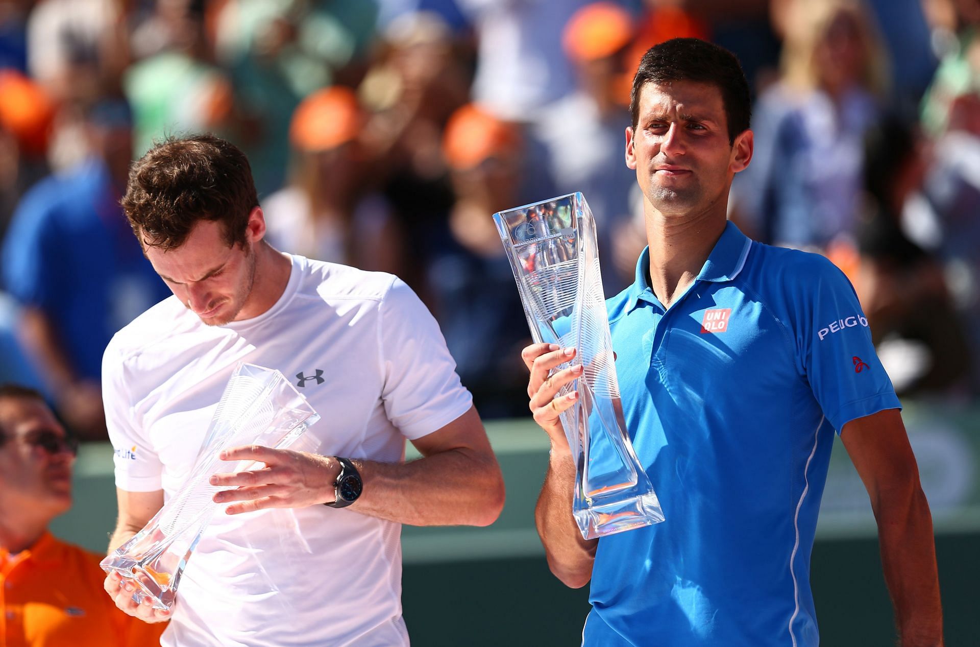
[[903,647],[943,644],[943,610],[932,517],[918,485],[875,506],[885,581]]

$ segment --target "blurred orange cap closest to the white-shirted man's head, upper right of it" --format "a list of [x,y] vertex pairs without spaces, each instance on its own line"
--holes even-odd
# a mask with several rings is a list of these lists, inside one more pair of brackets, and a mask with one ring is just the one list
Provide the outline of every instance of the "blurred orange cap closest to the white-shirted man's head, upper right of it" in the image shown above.
[[314,92],[297,106],[289,141],[300,150],[325,151],[355,139],[363,125],[354,91],[337,85]]

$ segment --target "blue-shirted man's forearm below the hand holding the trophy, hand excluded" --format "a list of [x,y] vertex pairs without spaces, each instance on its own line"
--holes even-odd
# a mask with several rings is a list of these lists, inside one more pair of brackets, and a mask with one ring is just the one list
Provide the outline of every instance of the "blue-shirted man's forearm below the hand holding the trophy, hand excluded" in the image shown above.
[[586,540],[571,512],[575,464],[570,452],[552,450],[534,522],[544,544],[548,566],[565,585],[579,588],[592,577],[598,540]]

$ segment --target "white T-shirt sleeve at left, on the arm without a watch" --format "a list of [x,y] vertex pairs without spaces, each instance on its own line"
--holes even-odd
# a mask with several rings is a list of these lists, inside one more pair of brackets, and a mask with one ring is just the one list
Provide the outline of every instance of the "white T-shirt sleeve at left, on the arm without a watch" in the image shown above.
[[163,466],[137,421],[126,388],[136,376],[126,373],[123,358],[110,343],[102,356],[102,402],[114,450],[116,485],[127,492],[154,492],[163,487]]

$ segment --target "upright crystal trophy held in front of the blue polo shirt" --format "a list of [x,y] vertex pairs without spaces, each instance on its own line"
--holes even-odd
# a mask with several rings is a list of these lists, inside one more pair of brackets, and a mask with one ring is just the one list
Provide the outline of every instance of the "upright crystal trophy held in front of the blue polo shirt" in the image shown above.
[[534,341],[578,350],[553,373],[584,365],[582,376],[557,396],[576,388],[579,393],[561,418],[575,459],[572,513],[582,536],[662,522],[657,494],[623,423],[596,224],[585,197],[571,193],[493,218]]

